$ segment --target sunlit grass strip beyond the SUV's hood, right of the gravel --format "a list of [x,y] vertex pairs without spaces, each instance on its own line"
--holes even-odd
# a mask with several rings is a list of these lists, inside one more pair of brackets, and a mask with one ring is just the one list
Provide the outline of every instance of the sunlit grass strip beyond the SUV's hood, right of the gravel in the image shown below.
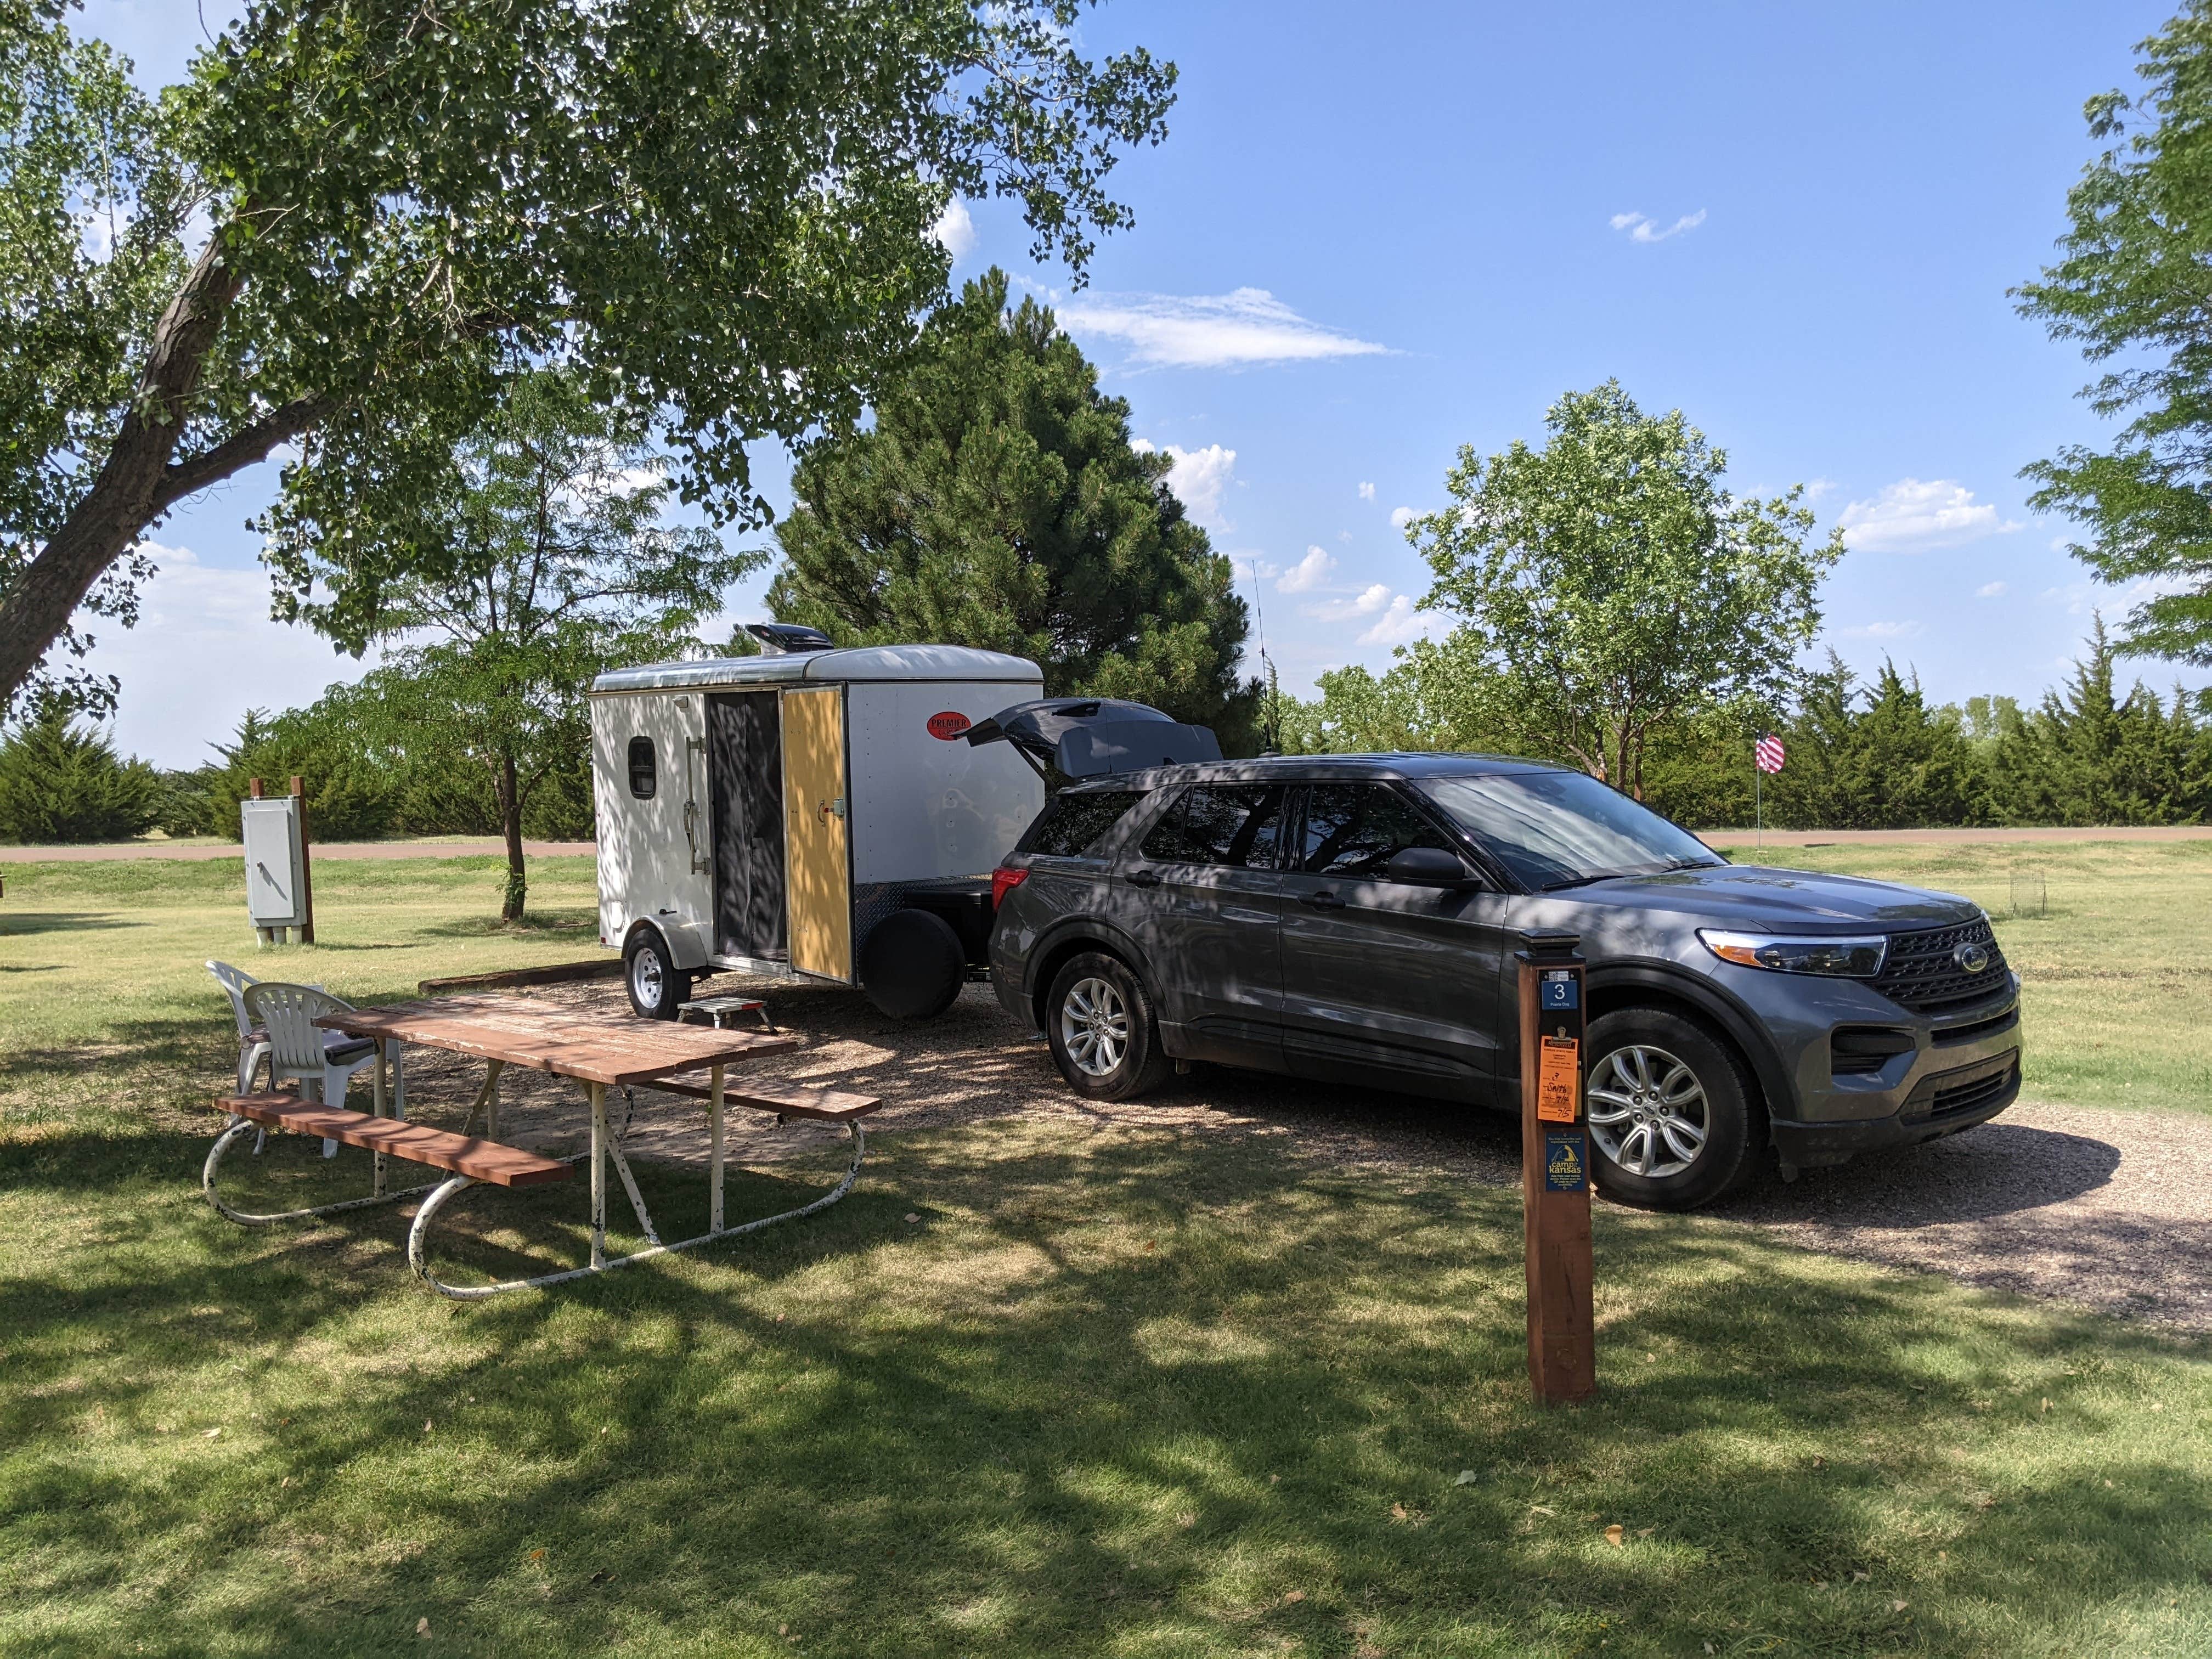
[[[2212,1110],[2212,841],[1732,847],[1982,905],[2022,978],[2026,1097]],[[2013,874],[2048,907],[2013,914]]]

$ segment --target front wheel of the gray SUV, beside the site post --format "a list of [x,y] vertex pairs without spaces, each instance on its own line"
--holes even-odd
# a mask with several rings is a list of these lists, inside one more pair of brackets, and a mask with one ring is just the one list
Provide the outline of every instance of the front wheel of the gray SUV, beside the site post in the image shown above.
[[1593,1175],[1624,1203],[1692,1210],[1756,1168],[1743,1068],[1679,1013],[1617,1009],[1593,1022],[1586,1104]]

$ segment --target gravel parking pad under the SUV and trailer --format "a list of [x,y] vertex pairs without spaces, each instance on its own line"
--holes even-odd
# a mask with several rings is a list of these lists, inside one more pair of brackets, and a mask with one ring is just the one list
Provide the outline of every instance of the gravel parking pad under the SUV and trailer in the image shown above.
[[[768,998],[807,1046],[732,1071],[880,1095],[869,1135],[975,1124],[1009,1113],[1051,1113],[1071,1128],[1181,1128],[1294,1137],[1323,1164],[1402,1170],[1418,1179],[1520,1179],[1520,1130],[1500,1115],[1376,1091],[1307,1084],[1203,1066],[1157,1097],[1095,1104],[1073,1095],[1044,1044],[1009,1020],[989,987],[971,984],[953,1009],[920,1026],[880,1018],[849,991],[745,984]],[[626,1011],[604,982],[551,987],[546,1000]],[[409,1095],[429,1121],[458,1117],[476,1093],[473,1062],[409,1051]],[[504,1139],[580,1150],[580,1091],[542,1073],[507,1073]],[[644,1157],[706,1164],[699,1108],[639,1091],[628,1146]],[[1865,1157],[1836,1170],[1774,1177],[1705,1217],[1767,1228],[1792,1243],[1891,1267],[1940,1272],[1991,1290],[2048,1296],[2106,1314],[2212,1332],[2212,1119],[2154,1110],[2013,1106],[1993,1124],[1916,1150]],[[843,1133],[818,1124],[774,1128],[732,1113],[730,1155],[772,1164],[825,1152]]]

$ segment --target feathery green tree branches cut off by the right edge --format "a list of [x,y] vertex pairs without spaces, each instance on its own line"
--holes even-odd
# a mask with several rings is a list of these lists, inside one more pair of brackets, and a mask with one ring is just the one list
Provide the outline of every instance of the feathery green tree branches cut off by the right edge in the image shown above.
[[2090,363],[2108,449],[2073,445],[2026,469],[2028,504],[2084,526],[2073,553],[2106,582],[2163,580],[2128,617],[2126,648],[2212,664],[2212,7],[2188,0],[2141,44],[2146,91],[2088,100],[2112,139],[2066,195],[2059,263],[2013,290],[2020,312]]

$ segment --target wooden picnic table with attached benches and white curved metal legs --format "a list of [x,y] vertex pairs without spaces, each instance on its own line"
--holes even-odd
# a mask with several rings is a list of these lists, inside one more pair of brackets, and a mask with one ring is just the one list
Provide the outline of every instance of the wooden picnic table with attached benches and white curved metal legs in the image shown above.
[[[445,1296],[456,1298],[495,1296],[507,1290],[526,1290],[533,1285],[555,1285],[566,1279],[584,1279],[588,1274],[624,1267],[648,1256],[668,1254],[672,1250],[690,1250],[692,1245],[701,1245],[712,1239],[728,1239],[741,1232],[776,1225],[779,1221],[796,1221],[799,1217],[814,1214],[816,1210],[836,1203],[852,1190],[852,1183],[860,1175],[860,1161],[867,1157],[867,1135],[860,1128],[860,1119],[880,1104],[865,1095],[843,1095],[830,1088],[807,1088],[794,1084],[754,1084],[748,1088],[730,1088],[730,1066],[799,1046],[799,1037],[785,1031],[721,1031],[714,1026],[670,1024],[664,1020],[604,1018],[577,1013],[557,1004],[504,995],[453,995],[400,1002],[385,1009],[343,1009],[323,1015],[316,1024],[330,1031],[343,1031],[352,1037],[367,1037],[376,1044],[374,1110],[352,1113],[323,1102],[310,1102],[292,1093],[232,1095],[219,1102],[221,1108],[232,1115],[232,1121],[208,1152],[208,1166],[204,1172],[208,1201],[232,1221],[265,1223],[292,1217],[332,1214],[336,1210],[356,1210],[369,1203],[392,1203],[414,1197],[416,1192],[429,1192],[422,1208],[416,1210],[414,1225],[407,1234],[407,1261],[425,1283]],[[484,1086],[478,1091],[458,1133],[405,1119],[405,1099],[400,1095],[403,1086],[394,1082],[394,1086],[387,1088],[385,1082],[387,1064],[396,1057],[396,1051],[403,1044],[445,1048],[449,1053],[484,1060]],[[568,1159],[546,1159],[524,1148],[500,1144],[500,1075],[507,1066],[526,1066],[557,1077],[573,1077],[584,1086],[584,1093],[591,1099],[588,1152]],[[684,1075],[701,1071],[706,1073],[706,1084],[677,1082]],[[622,1088],[628,1093],[639,1084],[706,1102],[708,1230],[695,1239],[681,1239],[677,1243],[661,1241],[657,1228],[653,1225],[653,1217],[646,1210],[644,1194],[637,1188],[637,1179],[630,1172],[630,1164],[622,1155],[622,1135],[611,1130],[606,1091]],[[732,1104],[774,1113],[779,1121],[790,1117],[810,1117],[843,1124],[852,1137],[852,1164],[845,1170],[845,1179],[830,1192],[796,1210],[785,1210],[783,1214],[763,1217],[759,1221],[745,1221],[734,1228],[726,1225],[723,1113]],[[469,1135],[478,1113],[484,1115],[484,1137]],[[215,1197],[215,1170],[228,1146],[257,1124],[301,1135],[321,1135],[345,1146],[367,1148],[374,1155],[374,1186],[369,1197],[270,1217],[243,1214],[223,1206],[221,1199]],[[431,1186],[392,1192],[387,1175],[387,1161],[392,1157],[429,1164],[431,1168],[449,1170],[449,1175],[445,1181]],[[560,1181],[580,1161],[591,1164],[591,1265],[535,1274],[531,1279],[509,1279],[491,1285],[449,1285],[431,1274],[427,1250],[429,1225],[453,1194],[478,1181],[509,1188]],[[635,1250],[624,1256],[606,1254],[608,1164],[615,1166],[622,1188],[630,1199],[630,1208],[637,1212],[637,1223],[648,1241],[646,1250]]]

